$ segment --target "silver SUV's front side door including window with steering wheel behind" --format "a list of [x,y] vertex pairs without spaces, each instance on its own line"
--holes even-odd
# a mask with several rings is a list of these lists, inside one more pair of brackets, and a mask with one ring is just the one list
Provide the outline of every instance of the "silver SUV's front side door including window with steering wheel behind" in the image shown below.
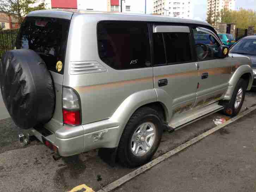
[[231,57],[218,58],[220,41],[213,31],[192,29],[199,66],[199,88],[195,106],[205,106],[222,99],[231,75]]

